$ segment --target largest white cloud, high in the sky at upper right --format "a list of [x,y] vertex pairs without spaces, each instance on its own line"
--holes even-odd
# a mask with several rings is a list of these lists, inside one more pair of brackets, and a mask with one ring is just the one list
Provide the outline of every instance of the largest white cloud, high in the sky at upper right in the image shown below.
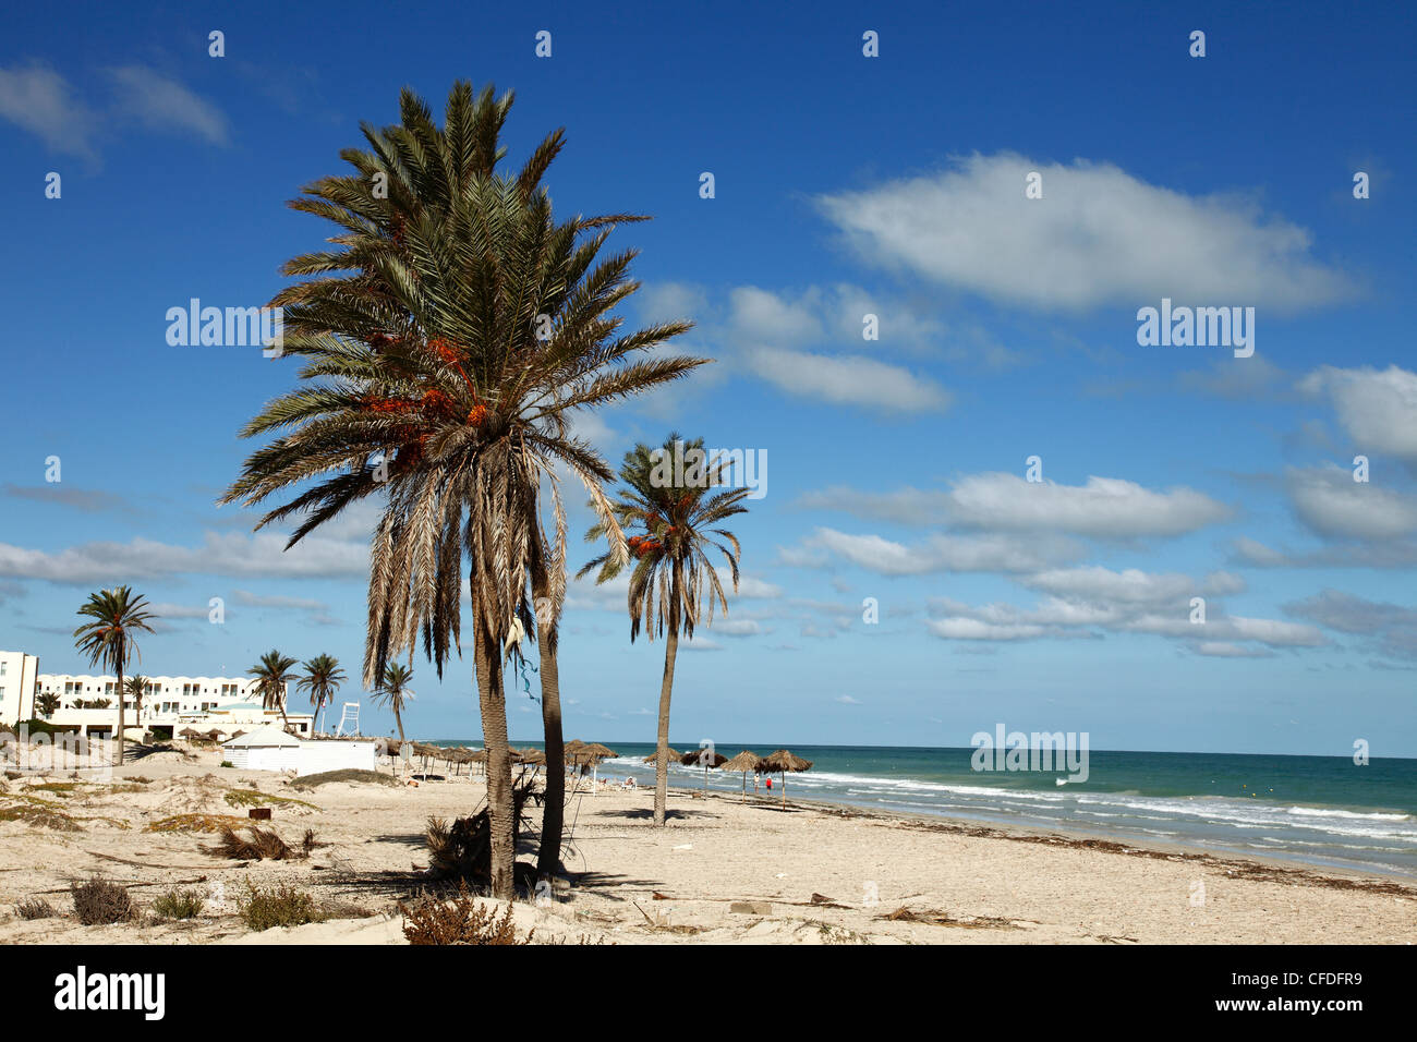
[[[1024,198],[1030,172],[1043,198]],[[1234,196],[1192,197],[1110,163],[1012,153],[818,198],[869,261],[1007,303],[1312,308],[1350,293],[1306,230]]]

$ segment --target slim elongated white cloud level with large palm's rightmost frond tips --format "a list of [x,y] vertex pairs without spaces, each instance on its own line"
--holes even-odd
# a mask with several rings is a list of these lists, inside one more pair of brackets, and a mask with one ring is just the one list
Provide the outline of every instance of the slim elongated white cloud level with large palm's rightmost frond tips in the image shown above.
[[757,347],[748,352],[747,364],[789,394],[843,405],[938,413],[952,400],[949,391],[930,377],[860,354]]

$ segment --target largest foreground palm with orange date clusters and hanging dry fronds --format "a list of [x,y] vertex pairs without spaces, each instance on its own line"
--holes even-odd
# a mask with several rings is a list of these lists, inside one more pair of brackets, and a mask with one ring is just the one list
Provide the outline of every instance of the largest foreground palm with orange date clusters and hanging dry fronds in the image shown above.
[[[285,274],[306,281],[273,301],[285,308],[283,353],[307,359],[300,377],[316,383],[247,424],[244,437],[282,434],[249,456],[222,500],[255,505],[319,478],[259,522],[303,516],[295,544],[350,503],[383,498],[370,554],[368,688],[419,635],[439,676],[449,654],[461,655],[466,574],[499,897],[512,895],[513,868],[503,652],[519,622],[536,629],[529,583],[546,590],[553,627],[560,612],[565,517],[555,466],[587,488],[612,553],[628,560],[601,489],[614,475],[572,434],[575,410],[706,362],[638,357],[689,323],[621,333],[612,312],[638,289],[628,274],[635,252],[598,254],[615,224],[638,218],[553,220],[540,181],[561,149],[560,130],[519,176],[497,173],[510,103],[490,88],[475,101],[459,82],[439,129],[405,91],[401,125],[366,126],[371,150],[341,153],[357,176],[316,181],[292,203],[346,233],[333,240],[344,250],[288,262]],[[341,271],[354,274],[332,275]],[[547,726],[558,726],[555,699],[543,702]],[[560,795],[548,792],[548,805]],[[558,836],[557,828],[550,838]]]

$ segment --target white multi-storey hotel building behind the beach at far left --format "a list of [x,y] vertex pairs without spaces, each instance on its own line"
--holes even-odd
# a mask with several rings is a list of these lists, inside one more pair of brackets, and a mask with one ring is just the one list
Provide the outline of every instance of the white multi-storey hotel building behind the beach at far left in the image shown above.
[[[262,724],[281,726],[278,709],[262,709],[256,682],[249,676],[146,676],[142,717],[132,695],[123,698],[123,726],[129,737],[150,732],[154,737],[176,737],[187,727],[218,730],[231,736]],[[125,676],[125,685],[128,678]],[[77,673],[41,673],[40,659],[24,652],[0,651],[0,723],[14,727],[21,720],[41,719],[82,734],[112,733],[118,727],[118,678]],[[286,706],[290,685],[286,685]],[[54,695],[60,707],[43,713],[41,695]],[[78,709],[75,702],[108,699],[106,709]],[[309,713],[286,713],[290,730],[310,737]]]

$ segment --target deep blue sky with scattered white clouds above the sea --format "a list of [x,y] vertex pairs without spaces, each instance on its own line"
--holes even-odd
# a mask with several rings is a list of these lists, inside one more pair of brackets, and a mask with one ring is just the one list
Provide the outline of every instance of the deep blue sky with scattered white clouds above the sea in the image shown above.
[[[74,612],[128,583],[160,615],[146,673],[327,652],[340,700],[361,698],[377,505],[290,551],[217,508],[256,447],[237,431],[298,366],[171,346],[166,315],[268,302],[332,234],[286,203],[344,173],[402,86],[441,113],[466,78],[516,92],[512,166],[565,128],[558,213],[655,218],[611,238],[639,251],[623,315],[691,319],[674,350],[716,360],[580,431],[615,465],[703,437],[765,478],[734,519],[730,614],[679,656],[673,741],[958,747],[1003,723],[1417,756],[1414,23],[1302,3],[10,11],[0,646],[89,672]],[[1231,342],[1144,343],[1163,301],[1227,309]],[[411,734],[476,739],[470,654],[442,680],[414,666]],[[622,586],[572,584],[570,736],[653,741],[662,669]],[[512,686],[513,741],[538,739]],[[363,700],[364,730],[390,729]]]

